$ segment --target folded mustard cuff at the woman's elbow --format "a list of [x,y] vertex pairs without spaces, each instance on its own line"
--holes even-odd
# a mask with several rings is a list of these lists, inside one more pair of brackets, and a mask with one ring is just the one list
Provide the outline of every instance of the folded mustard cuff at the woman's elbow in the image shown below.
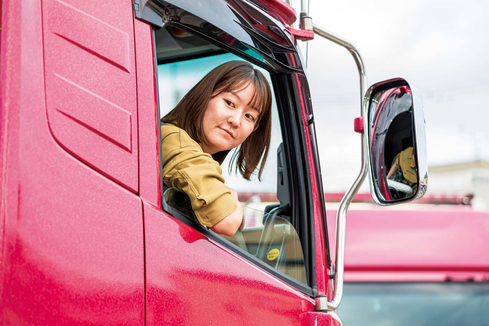
[[231,194],[224,194],[213,202],[200,207],[195,215],[203,226],[212,227],[224,217],[236,211],[238,204]]

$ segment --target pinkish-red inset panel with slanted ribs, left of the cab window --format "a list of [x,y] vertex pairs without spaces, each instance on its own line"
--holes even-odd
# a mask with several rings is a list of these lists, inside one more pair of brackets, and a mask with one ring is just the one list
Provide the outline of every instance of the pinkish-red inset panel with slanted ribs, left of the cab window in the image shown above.
[[131,0],[44,0],[48,122],[70,153],[138,191]]

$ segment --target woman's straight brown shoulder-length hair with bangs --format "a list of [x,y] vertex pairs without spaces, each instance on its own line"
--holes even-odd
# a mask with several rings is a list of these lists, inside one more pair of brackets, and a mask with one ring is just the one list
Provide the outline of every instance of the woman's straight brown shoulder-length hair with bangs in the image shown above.
[[[223,92],[244,89],[251,83],[255,87],[255,92],[248,105],[260,111],[256,120],[258,128],[235,150],[229,170],[236,161],[235,171],[239,170],[240,174],[249,180],[259,166],[260,179],[270,149],[272,96],[267,79],[251,64],[245,61],[229,61],[218,65],[192,87],[161,121],[177,121],[178,127],[185,130],[192,139],[199,143],[206,142],[203,117],[210,99]],[[229,151],[217,152],[212,158],[222,164],[228,153]]]

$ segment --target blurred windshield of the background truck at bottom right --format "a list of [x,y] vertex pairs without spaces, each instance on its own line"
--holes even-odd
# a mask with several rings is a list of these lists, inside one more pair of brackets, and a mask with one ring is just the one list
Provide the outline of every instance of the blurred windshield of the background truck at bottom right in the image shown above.
[[489,283],[345,283],[345,326],[489,326]]

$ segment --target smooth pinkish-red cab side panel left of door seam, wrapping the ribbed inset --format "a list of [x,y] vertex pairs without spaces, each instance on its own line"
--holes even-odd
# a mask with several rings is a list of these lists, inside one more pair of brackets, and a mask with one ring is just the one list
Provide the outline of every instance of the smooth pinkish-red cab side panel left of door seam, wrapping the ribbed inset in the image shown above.
[[41,4],[3,10],[1,321],[142,326],[141,199],[53,139]]

